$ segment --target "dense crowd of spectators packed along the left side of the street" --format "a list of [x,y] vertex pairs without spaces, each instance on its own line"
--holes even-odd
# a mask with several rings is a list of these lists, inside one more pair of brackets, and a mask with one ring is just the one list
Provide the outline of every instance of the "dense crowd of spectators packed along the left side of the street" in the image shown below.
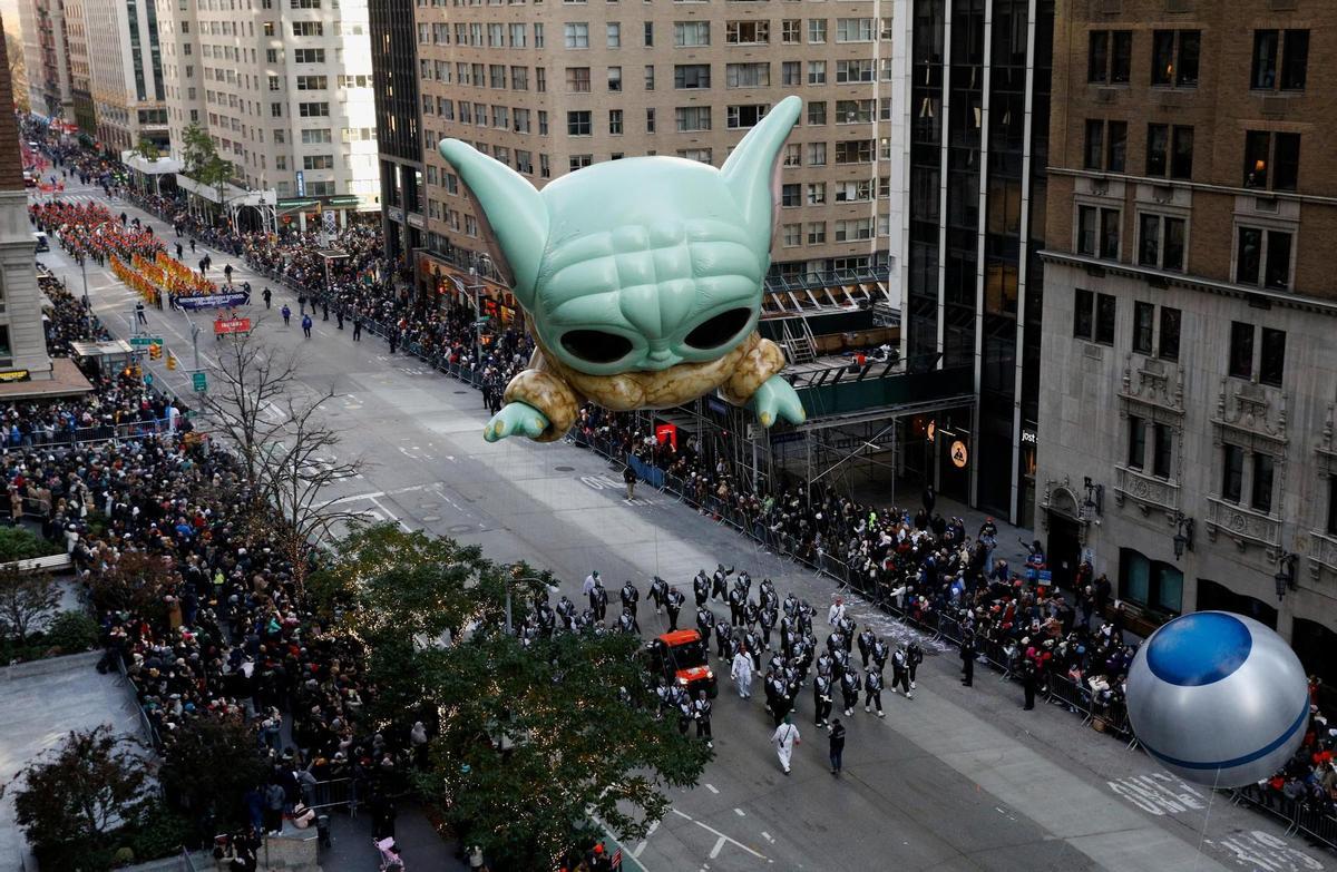
[[[88,321],[68,294],[48,297],[56,353],[84,338]],[[408,730],[386,738],[368,728],[358,658],[303,607],[293,566],[246,516],[233,456],[209,451],[187,409],[140,378],[86,374],[94,391],[82,397],[0,407],[5,481],[19,496],[11,520],[40,520],[64,542],[100,607],[103,667],[124,667],[155,738],[170,749],[201,718],[246,724],[271,765],[245,797],[257,829],[310,802],[317,781],[358,780],[373,802],[402,786]],[[52,444],[131,421],[154,427]]]

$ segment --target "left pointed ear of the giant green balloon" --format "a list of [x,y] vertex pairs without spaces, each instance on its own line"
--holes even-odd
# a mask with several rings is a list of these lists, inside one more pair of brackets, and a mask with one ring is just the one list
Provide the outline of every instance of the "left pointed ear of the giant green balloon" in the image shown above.
[[548,210],[523,175],[459,139],[443,139],[441,156],[455,167],[477,206],[496,267],[520,305],[533,301],[548,242]]

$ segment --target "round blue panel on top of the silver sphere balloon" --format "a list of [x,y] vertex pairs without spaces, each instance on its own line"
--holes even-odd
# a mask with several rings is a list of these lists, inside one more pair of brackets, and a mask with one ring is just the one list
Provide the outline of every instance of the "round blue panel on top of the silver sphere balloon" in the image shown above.
[[1253,637],[1237,618],[1203,611],[1161,627],[1147,647],[1147,666],[1157,678],[1181,687],[1199,687],[1233,674],[1249,659]]

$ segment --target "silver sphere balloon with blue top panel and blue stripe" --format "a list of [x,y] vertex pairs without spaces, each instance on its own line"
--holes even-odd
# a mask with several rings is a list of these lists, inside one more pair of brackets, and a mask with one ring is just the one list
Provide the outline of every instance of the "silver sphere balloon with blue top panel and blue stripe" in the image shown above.
[[1257,621],[1225,611],[1187,614],[1152,633],[1126,691],[1147,753],[1209,786],[1267,778],[1309,722],[1309,681],[1296,653]]

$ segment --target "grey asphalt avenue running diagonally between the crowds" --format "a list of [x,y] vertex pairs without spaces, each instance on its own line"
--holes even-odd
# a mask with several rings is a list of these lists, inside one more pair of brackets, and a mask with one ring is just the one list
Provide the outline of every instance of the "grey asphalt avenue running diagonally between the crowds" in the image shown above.
[[[70,189],[66,197],[100,199],[100,191]],[[120,202],[114,214],[144,213]],[[175,242],[170,226],[155,231]],[[39,261],[80,293],[80,270],[52,246]],[[203,249],[207,250],[207,249]],[[253,300],[241,312],[255,321],[266,346],[301,346],[302,383],[337,396],[325,407],[344,432],[340,459],[361,457],[362,475],[340,483],[341,508],[366,512],[408,530],[427,530],[479,543],[497,560],[525,559],[551,568],[563,591],[580,603],[582,579],[598,568],[610,592],[623,579],[642,590],[640,625],[648,637],[666,629],[644,598],[651,575],[689,595],[690,579],[717,562],[770,576],[783,596],[796,591],[822,615],[833,582],[757,550],[714,523],[642,484],[626,500],[620,468],[567,443],[540,445],[483,440],[481,396],[405,354],[390,356],[382,340],[352,341],[352,325],[334,329],[317,316],[303,340],[294,294],[270,285],[274,310],[261,302],[265,280],[237,258],[213,253],[210,271],[250,281]],[[107,270],[88,266],[88,293],[110,329],[127,336],[134,294]],[[291,328],[278,309],[293,308]],[[202,364],[214,365],[213,313],[191,314],[201,328]],[[183,368],[191,366],[187,316],[148,310],[148,332],[162,336]],[[152,366],[187,404],[190,374]],[[281,415],[277,408],[270,411]],[[717,614],[721,607],[715,606]],[[876,631],[912,631],[864,603],[852,610]],[[685,613],[686,617],[686,613]],[[673,812],[643,841],[624,851],[646,869],[1324,869],[1328,855],[1288,836],[1284,827],[1237,808],[1225,794],[1166,774],[1140,752],[1084,728],[1067,712],[1020,710],[1020,689],[987,667],[976,686],[957,681],[955,650],[924,641],[928,659],[912,701],[884,694],[886,718],[856,712],[846,718],[846,772],[828,772],[825,732],[813,726],[805,687],[796,713],[802,744],[785,776],[769,744],[770,721],[761,694],[742,701],[727,666],[715,663],[715,760],[702,784],[674,797]],[[413,857],[408,857],[410,868]],[[628,864],[630,865],[630,864]],[[425,868],[425,867],[424,867]]]

